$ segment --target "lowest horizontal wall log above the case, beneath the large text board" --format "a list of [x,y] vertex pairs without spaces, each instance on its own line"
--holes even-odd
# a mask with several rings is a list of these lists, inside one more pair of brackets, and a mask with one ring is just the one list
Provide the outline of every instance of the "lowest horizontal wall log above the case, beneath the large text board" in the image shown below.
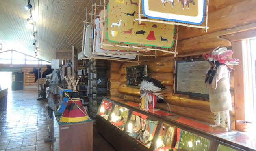
[[[156,103],[156,108],[167,111],[165,103]],[[214,114],[209,111],[204,111],[200,109],[194,109],[191,107],[182,107],[179,105],[170,105],[171,113],[182,115],[184,117],[189,117],[195,120],[200,120],[208,123],[214,123]]]

